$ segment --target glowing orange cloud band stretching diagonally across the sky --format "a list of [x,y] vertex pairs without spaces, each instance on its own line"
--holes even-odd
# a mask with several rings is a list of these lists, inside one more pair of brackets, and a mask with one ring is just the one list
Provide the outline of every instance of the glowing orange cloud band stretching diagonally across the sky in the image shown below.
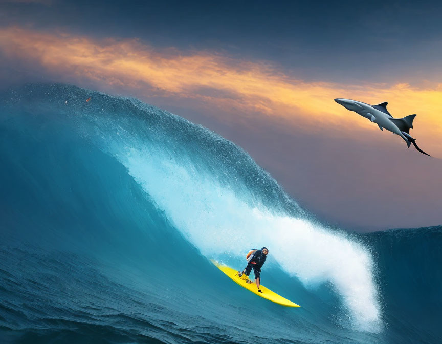
[[64,81],[86,78],[135,90],[140,96],[194,99],[224,111],[296,122],[308,130],[327,128],[329,135],[352,139],[379,129],[333,99],[388,101],[395,117],[417,113],[412,135],[425,150],[442,155],[442,143],[435,139],[442,134],[442,85],[418,89],[408,84],[306,82],[262,61],[235,60],[206,51],[158,51],[138,39],[94,40],[18,27],[0,29],[0,50],[10,58],[37,63]]

